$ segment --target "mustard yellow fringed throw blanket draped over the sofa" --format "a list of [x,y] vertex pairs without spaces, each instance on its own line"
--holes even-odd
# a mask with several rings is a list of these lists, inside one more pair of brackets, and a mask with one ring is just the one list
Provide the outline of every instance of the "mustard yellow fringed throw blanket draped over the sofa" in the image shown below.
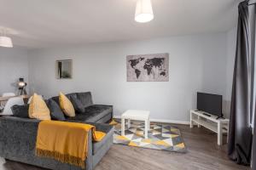
[[90,130],[93,141],[101,141],[106,135],[89,124],[42,121],[38,126],[36,155],[84,169]]

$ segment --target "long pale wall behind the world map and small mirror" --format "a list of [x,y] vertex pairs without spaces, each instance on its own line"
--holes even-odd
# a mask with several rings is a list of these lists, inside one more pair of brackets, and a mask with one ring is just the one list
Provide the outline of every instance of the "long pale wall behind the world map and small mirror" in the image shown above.
[[[169,82],[126,82],[126,55],[169,53]],[[55,60],[73,59],[73,79],[55,78]],[[189,121],[196,92],[227,99],[227,35],[166,37],[141,42],[109,42],[29,52],[32,92],[45,97],[91,91],[96,104],[151,111],[152,118]]]

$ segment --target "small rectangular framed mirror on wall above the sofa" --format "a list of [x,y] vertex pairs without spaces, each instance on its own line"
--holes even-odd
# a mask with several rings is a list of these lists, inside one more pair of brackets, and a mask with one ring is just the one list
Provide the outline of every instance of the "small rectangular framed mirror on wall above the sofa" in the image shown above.
[[71,79],[73,77],[72,59],[56,60],[55,75],[57,79]]

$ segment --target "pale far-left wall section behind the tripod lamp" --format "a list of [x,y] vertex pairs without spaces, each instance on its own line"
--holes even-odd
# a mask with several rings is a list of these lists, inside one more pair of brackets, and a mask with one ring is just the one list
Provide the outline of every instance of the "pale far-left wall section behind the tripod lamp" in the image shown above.
[[0,48],[0,95],[17,93],[20,77],[28,81],[27,50],[25,48]]

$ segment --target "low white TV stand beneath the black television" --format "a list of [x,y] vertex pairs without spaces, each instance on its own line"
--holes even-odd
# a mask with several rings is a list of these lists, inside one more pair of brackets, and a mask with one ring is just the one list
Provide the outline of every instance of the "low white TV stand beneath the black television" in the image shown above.
[[190,110],[190,128],[206,127],[214,133],[218,133],[218,145],[223,144],[223,133],[229,133],[229,119],[213,116],[204,111]]

